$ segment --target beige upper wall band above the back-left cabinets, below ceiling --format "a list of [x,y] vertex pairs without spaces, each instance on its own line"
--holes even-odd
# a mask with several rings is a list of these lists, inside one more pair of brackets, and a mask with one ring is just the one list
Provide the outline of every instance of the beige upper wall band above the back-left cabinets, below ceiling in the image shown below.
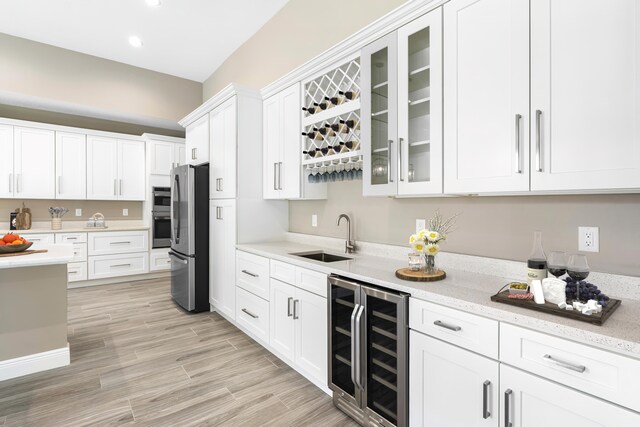
[[0,91],[177,122],[202,84],[0,34]]

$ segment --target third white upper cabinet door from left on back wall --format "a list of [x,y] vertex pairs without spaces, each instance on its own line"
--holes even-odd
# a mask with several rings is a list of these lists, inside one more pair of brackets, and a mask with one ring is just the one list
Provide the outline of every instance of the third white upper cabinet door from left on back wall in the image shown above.
[[56,132],[56,199],[87,198],[87,136]]

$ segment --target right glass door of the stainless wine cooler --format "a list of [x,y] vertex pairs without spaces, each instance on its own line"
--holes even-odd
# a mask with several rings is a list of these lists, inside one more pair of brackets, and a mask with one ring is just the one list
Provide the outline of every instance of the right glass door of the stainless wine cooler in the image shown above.
[[[360,384],[364,388],[364,407],[369,416],[380,416],[396,426],[406,426],[408,329],[407,295],[387,293],[362,286],[365,307],[361,327],[369,340],[363,355]],[[376,415],[377,414],[377,415]]]

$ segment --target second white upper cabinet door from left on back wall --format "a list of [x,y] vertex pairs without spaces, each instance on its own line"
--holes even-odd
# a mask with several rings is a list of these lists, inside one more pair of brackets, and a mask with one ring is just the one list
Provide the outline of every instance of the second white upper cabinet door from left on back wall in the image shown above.
[[55,197],[55,136],[44,129],[13,129],[15,196],[24,199]]

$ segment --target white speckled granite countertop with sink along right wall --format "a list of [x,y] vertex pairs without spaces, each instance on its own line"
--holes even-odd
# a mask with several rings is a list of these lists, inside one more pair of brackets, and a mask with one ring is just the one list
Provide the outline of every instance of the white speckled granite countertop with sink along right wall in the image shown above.
[[[326,274],[334,273],[406,292],[421,300],[640,359],[640,301],[638,300],[624,299],[622,305],[603,326],[596,326],[490,300],[490,297],[503,285],[517,280],[517,277],[499,277],[447,268],[447,277],[442,281],[408,282],[395,277],[397,269],[406,267],[406,261],[397,258],[341,254],[353,259],[322,263],[290,254],[326,249],[290,241],[240,244],[237,248]],[[326,251],[340,254],[338,251]],[[615,295],[611,296],[615,297]]]

